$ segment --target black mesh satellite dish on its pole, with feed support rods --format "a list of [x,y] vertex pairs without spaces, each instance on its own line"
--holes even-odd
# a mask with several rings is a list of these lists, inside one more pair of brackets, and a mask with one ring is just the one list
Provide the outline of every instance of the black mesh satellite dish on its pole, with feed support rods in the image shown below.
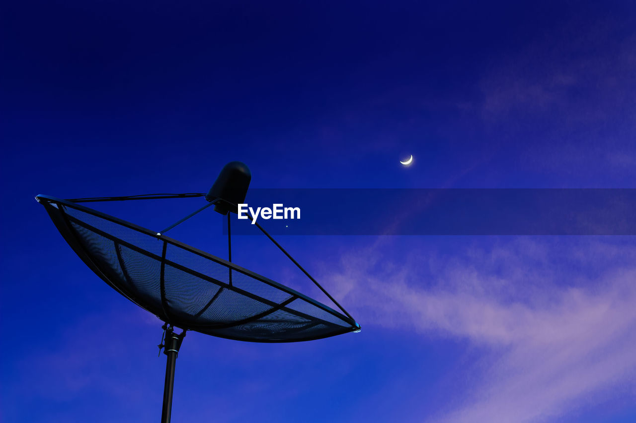
[[[155,314],[164,325],[167,355],[162,422],[170,421],[177,354],[186,331],[251,342],[298,342],[357,332],[360,325],[258,222],[272,242],[324,292],[342,313],[300,292],[232,263],[230,212],[245,200],[251,173],[244,163],[221,170],[207,194],[59,199],[39,195],[74,252],[121,295]],[[160,232],[78,203],[203,197],[209,202]],[[165,232],[208,206],[228,216],[229,259],[216,257]],[[183,329],[175,333],[174,327]]]

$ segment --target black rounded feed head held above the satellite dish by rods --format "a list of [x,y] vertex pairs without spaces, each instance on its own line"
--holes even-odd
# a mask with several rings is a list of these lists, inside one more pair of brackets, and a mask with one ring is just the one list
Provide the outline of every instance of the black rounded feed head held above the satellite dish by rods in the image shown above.
[[231,161],[223,166],[221,173],[212,184],[212,188],[205,195],[207,201],[218,199],[214,211],[227,215],[228,211],[237,213],[237,205],[245,203],[247,188],[252,180],[252,173],[247,164]]

